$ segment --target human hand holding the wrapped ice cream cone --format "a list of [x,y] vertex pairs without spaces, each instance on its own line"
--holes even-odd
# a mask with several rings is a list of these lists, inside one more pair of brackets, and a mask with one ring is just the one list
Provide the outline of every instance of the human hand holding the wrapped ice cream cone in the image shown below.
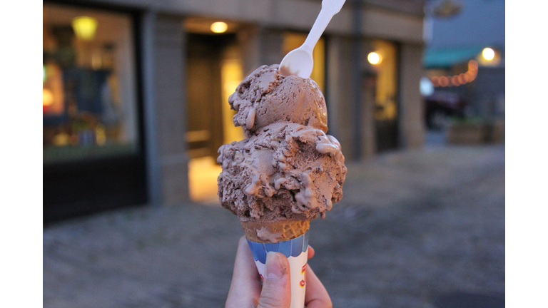
[[[314,256],[308,246],[308,259]],[[331,308],[333,304],[328,291],[314,274],[310,265],[306,267],[305,305],[307,308]],[[260,284],[260,276],[255,267],[248,241],[241,237],[234,262],[234,273],[225,308],[289,308],[291,284],[289,261],[280,252],[266,255],[265,280]]]

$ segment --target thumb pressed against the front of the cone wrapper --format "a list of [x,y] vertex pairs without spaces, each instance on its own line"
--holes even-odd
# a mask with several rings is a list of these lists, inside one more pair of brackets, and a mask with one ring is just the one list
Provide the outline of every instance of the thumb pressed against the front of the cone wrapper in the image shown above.
[[257,308],[289,308],[291,281],[289,261],[280,252],[268,252],[265,264],[265,281]]

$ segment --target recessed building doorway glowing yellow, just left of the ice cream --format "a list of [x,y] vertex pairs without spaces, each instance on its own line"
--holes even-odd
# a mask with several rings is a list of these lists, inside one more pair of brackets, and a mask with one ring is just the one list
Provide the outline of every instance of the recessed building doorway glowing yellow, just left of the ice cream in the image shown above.
[[232,122],[228,96],[242,77],[235,34],[187,37],[187,130],[191,199],[218,203],[220,145],[244,138]]

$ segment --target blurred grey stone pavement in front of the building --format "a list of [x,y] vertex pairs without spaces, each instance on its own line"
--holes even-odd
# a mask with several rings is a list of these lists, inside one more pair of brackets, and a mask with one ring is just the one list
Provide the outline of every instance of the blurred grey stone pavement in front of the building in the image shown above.
[[[342,201],[310,228],[333,306],[504,307],[504,166],[504,145],[348,162]],[[51,225],[44,307],[224,307],[242,235],[228,210],[193,203]]]

